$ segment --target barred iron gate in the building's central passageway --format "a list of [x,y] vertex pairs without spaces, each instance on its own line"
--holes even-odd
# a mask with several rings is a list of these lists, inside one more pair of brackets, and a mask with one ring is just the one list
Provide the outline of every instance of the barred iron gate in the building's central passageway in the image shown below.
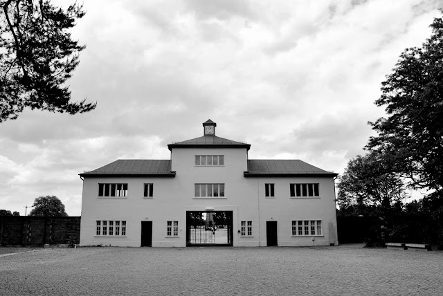
[[186,246],[233,246],[233,212],[186,212]]

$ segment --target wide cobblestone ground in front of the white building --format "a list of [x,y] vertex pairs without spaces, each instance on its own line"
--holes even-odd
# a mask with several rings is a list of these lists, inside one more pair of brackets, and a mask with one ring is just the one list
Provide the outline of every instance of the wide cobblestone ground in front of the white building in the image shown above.
[[443,252],[55,248],[0,257],[0,295],[443,295]]

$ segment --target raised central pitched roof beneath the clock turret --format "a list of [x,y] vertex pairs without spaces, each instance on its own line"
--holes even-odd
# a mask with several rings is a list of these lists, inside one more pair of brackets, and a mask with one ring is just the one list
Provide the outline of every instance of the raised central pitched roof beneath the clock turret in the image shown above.
[[189,147],[247,148],[249,150],[251,148],[251,144],[236,142],[233,140],[228,140],[217,136],[201,136],[199,138],[194,138],[183,142],[174,142],[168,145],[168,149],[170,150],[172,148],[189,148]]

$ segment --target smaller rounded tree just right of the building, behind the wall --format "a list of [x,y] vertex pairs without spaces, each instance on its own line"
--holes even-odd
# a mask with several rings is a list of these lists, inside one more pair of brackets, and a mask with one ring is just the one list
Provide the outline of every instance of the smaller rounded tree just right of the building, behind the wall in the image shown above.
[[374,214],[388,226],[392,216],[401,212],[405,198],[404,183],[398,174],[383,166],[383,156],[370,153],[352,158],[338,178],[337,204],[340,208],[356,207],[356,214]]

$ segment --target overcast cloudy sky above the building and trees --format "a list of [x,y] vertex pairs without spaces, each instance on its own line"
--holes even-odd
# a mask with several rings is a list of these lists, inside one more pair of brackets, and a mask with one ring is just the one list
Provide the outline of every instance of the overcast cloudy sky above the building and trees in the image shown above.
[[[55,1],[66,3],[66,0]],[[203,135],[251,144],[250,159],[343,172],[372,135],[380,85],[421,46],[442,1],[87,0],[87,48],[69,80],[90,113],[26,110],[0,124],[0,209],[55,195],[79,216],[78,174],[117,159],[170,159]],[[28,209],[29,213],[29,209]]]

